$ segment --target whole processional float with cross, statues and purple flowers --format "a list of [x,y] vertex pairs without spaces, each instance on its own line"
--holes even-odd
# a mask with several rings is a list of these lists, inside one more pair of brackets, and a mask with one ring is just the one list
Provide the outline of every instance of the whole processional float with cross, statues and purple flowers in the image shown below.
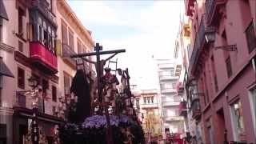
[[[93,64],[96,69],[97,78],[95,80],[91,72],[86,74],[85,69],[78,69],[77,66],[77,74],[74,76],[70,88],[70,98],[66,100],[69,107],[67,123],[60,128],[59,136],[61,142],[78,140],[83,143],[144,143],[142,127],[140,122],[138,122],[131,100],[134,96],[130,91],[128,69],[115,70],[120,75],[121,82],[118,82],[115,74],[111,74],[110,67],[104,69],[106,62],[110,58],[126,50],[102,51],[102,46],[96,43],[94,51],[70,55],[70,58],[76,58],[77,64],[78,58],[82,60],[82,63],[90,62]],[[100,56],[102,54],[112,55],[109,58],[101,59]],[[91,61],[88,58],[90,56],[96,56],[96,62]],[[131,125],[130,123],[133,124]],[[102,126],[103,128],[100,129]],[[93,133],[94,129],[95,132]],[[104,134],[106,141],[97,142],[101,141],[100,136]],[[88,137],[88,135],[92,136]],[[95,135],[96,137],[94,137]],[[137,135],[140,138],[135,142],[134,139]],[[89,140],[90,138],[92,140]]]

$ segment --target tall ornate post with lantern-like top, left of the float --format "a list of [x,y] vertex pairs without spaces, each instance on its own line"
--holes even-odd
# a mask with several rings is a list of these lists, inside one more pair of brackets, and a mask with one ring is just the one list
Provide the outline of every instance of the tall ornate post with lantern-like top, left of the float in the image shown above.
[[29,94],[32,98],[32,122],[31,122],[31,140],[33,144],[38,144],[39,142],[39,128],[38,128],[38,94],[42,91],[42,88],[38,86],[38,81],[36,78],[31,76],[29,79],[29,86],[31,86],[32,90],[30,90],[27,94]]

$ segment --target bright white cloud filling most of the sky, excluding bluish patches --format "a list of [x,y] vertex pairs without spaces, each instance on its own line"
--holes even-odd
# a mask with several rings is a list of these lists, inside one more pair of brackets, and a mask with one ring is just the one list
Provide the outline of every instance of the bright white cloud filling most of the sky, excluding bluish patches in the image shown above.
[[[104,50],[125,48],[126,54],[118,55],[118,66],[129,67],[132,82],[142,83],[143,87],[156,87],[158,78],[151,56],[173,58],[174,41],[178,33],[183,2],[154,1],[152,6],[140,10],[127,10],[123,5],[122,9],[115,9],[114,7],[121,5],[122,2],[106,2],[74,2],[77,3],[74,5],[75,11],[82,21],[102,26],[132,26],[139,30],[139,34],[126,38],[106,38],[100,43]],[[92,31],[97,37],[97,33]]]

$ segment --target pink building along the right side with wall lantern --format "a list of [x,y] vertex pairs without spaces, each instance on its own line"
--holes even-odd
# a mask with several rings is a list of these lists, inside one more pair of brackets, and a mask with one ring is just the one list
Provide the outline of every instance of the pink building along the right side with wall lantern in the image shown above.
[[186,0],[190,109],[204,143],[255,142],[254,0]]

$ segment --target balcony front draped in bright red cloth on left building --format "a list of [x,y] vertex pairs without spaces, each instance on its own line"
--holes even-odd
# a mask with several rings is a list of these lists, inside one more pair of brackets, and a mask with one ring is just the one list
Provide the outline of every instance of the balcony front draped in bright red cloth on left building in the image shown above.
[[50,74],[58,72],[56,55],[47,50],[41,42],[30,42],[30,58],[31,62],[44,72]]

